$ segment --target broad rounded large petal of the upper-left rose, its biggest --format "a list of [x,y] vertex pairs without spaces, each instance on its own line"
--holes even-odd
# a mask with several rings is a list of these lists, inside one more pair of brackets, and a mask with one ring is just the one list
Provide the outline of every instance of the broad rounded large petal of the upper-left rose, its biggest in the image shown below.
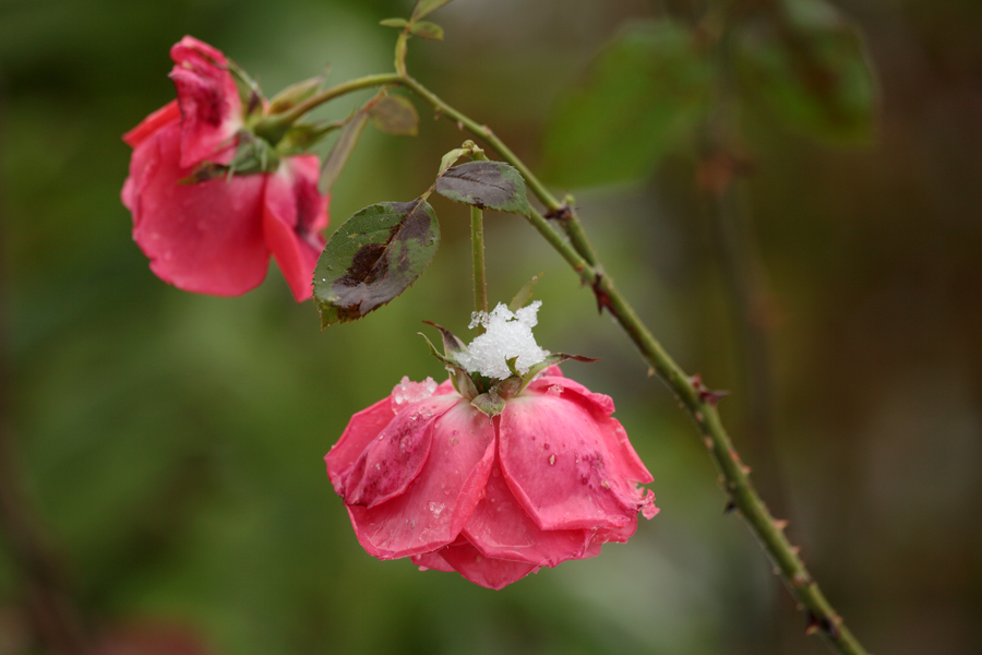
[[191,170],[178,165],[179,150],[180,128],[172,123],[133,153],[134,181],[123,189],[133,212],[133,239],[151,259],[151,270],[178,288],[244,294],[268,267],[261,214],[264,176],[182,184],[179,180]]

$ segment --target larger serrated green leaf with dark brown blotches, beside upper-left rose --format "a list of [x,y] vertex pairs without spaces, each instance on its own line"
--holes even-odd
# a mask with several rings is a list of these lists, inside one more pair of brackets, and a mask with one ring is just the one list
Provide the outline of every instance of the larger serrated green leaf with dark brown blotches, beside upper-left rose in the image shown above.
[[439,242],[436,215],[421,198],[374,204],[348,218],[314,269],[321,326],[360,319],[405,291]]

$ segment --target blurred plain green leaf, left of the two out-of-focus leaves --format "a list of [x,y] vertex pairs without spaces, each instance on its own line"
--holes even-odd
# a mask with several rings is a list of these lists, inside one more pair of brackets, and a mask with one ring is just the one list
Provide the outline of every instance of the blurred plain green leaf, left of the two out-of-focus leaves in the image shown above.
[[687,27],[635,24],[560,97],[544,138],[543,177],[565,187],[637,179],[691,140],[709,108],[712,69]]

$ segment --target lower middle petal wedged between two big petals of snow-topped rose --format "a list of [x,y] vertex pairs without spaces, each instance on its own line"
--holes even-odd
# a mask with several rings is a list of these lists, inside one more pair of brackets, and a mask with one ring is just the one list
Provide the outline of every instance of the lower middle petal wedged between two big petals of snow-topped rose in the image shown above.
[[488,478],[486,496],[463,534],[486,558],[538,567],[554,567],[567,559],[583,558],[590,544],[590,531],[539,528],[515,499],[496,462]]

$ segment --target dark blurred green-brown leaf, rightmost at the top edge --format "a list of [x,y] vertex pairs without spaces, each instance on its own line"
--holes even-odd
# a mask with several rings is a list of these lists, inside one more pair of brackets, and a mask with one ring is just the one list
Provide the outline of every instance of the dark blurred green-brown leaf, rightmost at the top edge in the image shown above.
[[870,142],[877,90],[858,29],[823,0],[786,4],[787,15],[740,34],[735,68],[746,96],[816,139]]

